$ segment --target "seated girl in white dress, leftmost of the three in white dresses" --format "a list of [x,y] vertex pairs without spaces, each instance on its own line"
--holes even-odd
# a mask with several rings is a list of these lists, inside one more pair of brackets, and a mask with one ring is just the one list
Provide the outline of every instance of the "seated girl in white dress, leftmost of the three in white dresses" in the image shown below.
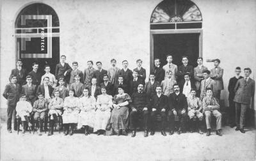
[[64,100],[62,114],[64,134],[68,135],[68,128],[70,128],[69,135],[73,135],[74,127],[77,123],[77,118],[79,114],[79,99],[74,95],[75,90],[70,89],[68,95]]

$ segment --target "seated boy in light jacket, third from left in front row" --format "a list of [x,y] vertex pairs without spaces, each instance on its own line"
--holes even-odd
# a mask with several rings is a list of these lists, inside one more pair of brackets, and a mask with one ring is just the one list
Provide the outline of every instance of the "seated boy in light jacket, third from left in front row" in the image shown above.
[[57,124],[57,129],[60,128],[60,119],[61,119],[61,114],[63,110],[63,99],[60,98],[60,91],[54,91],[54,98],[50,100],[49,103],[49,124],[50,124],[50,129],[49,129],[49,134],[53,134],[53,127],[54,127],[54,122]]

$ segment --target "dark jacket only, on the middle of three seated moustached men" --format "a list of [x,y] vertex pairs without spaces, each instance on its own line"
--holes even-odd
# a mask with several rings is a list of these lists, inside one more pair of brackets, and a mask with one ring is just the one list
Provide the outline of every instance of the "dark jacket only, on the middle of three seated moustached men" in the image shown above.
[[157,96],[157,94],[153,95],[151,97],[150,101],[150,107],[151,109],[154,108],[156,111],[161,111],[162,109],[168,109],[168,98],[167,96],[161,94],[160,97]]

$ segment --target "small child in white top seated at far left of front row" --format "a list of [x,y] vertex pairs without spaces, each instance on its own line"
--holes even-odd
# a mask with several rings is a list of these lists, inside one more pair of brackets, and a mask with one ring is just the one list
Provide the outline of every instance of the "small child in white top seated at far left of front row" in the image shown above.
[[30,113],[32,112],[32,105],[30,102],[26,101],[26,95],[22,94],[20,97],[20,101],[17,102],[16,105],[16,111],[17,114],[16,116],[20,117],[22,121],[22,126],[23,126],[23,134],[26,132],[26,123],[28,123],[28,126],[31,127],[31,123],[29,122],[29,116]]

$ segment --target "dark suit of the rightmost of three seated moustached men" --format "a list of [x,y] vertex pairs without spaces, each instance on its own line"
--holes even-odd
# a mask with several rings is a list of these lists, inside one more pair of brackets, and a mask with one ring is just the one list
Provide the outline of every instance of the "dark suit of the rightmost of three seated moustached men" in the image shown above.
[[187,113],[184,114],[181,113],[182,109],[187,111],[188,109],[188,102],[186,99],[186,96],[182,93],[179,93],[179,95],[176,95],[176,93],[170,94],[168,97],[168,105],[169,105],[169,112],[168,112],[168,121],[170,125],[170,129],[173,130],[174,128],[174,114],[173,111],[175,110],[177,112],[177,116],[180,118],[180,128],[181,130],[184,130],[185,128],[185,121],[187,117]]

